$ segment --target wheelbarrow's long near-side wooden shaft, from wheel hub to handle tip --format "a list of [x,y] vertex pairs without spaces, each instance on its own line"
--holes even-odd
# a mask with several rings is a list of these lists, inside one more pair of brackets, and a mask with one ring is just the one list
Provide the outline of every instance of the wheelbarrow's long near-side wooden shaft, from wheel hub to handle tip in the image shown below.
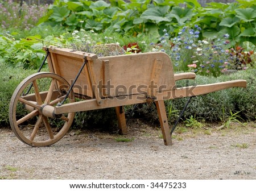
[[[176,99],[182,97],[191,97],[207,94],[210,92],[216,92],[218,90],[232,88],[232,87],[246,87],[245,80],[233,80],[228,82],[220,82],[216,84],[188,86],[185,88],[177,88],[175,90],[169,90],[159,92],[155,101]],[[108,107],[117,107],[121,105],[132,105],[135,103],[146,103],[147,93],[133,94],[130,96],[120,96],[111,98],[102,98],[102,104],[97,105],[96,99],[89,99],[85,101],[67,103],[60,107],[55,107],[55,114],[71,113],[76,111],[88,111],[103,109]]]

